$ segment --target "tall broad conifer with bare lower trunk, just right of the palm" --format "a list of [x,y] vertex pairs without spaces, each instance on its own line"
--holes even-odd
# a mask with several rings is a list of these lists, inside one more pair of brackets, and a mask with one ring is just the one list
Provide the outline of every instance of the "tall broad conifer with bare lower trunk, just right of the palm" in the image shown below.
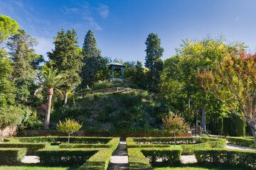
[[54,40],[55,49],[52,52],[47,52],[47,55],[54,62],[53,67],[67,76],[67,82],[63,86],[65,89],[64,103],[67,103],[70,87],[73,84],[80,84],[78,72],[82,67],[82,55],[78,48],[78,38],[76,38],[74,29],[72,31],[68,30],[66,33],[62,29],[57,33]]

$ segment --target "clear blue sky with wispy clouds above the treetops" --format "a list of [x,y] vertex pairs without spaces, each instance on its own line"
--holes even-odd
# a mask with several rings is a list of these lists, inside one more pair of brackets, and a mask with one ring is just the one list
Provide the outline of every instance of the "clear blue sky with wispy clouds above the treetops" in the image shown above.
[[0,14],[16,20],[37,38],[36,52],[46,59],[61,28],[75,29],[82,47],[89,29],[102,56],[144,62],[149,33],[161,39],[166,59],[181,40],[215,33],[256,51],[255,0],[0,0]]

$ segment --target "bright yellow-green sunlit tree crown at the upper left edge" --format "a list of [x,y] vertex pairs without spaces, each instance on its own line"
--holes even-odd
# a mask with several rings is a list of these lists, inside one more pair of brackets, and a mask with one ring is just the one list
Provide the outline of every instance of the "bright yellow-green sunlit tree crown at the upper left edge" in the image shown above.
[[0,15],[0,45],[18,32],[18,23],[9,16]]

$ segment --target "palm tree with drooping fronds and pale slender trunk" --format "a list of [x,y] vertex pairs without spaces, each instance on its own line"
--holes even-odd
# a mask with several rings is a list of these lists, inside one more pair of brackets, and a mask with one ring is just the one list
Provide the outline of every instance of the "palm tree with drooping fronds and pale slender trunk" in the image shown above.
[[47,89],[46,94],[47,94],[48,102],[47,102],[47,109],[46,109],[46,120],[43,125],[43,130],[46,130],[47,128],[49,128],[49,124],[50,124],[50,104],[51,104],[51,99],[53,97],[53,89],[58,91],[58,94],[60,94],[60,96],[63,98],[63,94],[56,87],[61,86],[62,84],[65,83],[65,74],[62,74],[62,73],[58,74],[57,69],[53,69],[53,67],[51,68],[46,67],[42,69],[42,71],[37,75],[36,79],[40,81],[41,87],[36,89],[34,95],[36,95],[38,91],[42,89]]

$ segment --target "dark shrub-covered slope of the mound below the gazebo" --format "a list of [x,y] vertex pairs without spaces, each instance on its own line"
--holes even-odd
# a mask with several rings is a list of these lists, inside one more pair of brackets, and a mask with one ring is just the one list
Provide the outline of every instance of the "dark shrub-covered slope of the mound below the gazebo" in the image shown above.
[[56,108],[51,122],[79,120],[87,132],[128,132],[161,128],[161,117],[172,111],[165,101],[146,91],[87,94]]

